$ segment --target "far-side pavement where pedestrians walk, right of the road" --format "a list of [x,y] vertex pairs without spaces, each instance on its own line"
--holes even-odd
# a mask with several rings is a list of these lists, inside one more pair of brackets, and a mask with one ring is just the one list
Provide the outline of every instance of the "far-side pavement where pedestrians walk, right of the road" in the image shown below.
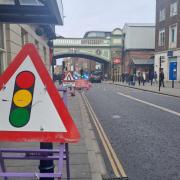
[[[112,81],[106,81],[106,83],[112,83]],[[139,86],[138,82],[136,82],[134,86],[128,85],[128,83],[126,82],[124,83],[114,82],[114,84],[129,88],[140,89],[144,91],[150,91],[159,94],[165,94],[174,97],[180,97],[180,82],[175,82],[174,88],[172,88],[172,82],[165,82],[165,87],[161,87],[160,91],[159,91],[159,84],[155,82],[152,85],[150,83],[145,83],[144,86],[142,84]]]

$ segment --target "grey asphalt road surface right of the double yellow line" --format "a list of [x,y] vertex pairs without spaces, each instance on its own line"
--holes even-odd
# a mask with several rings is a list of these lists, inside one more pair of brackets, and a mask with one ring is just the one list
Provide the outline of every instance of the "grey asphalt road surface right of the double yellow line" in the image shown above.
[[103,83],[86,96],[130,180],[180,180],[179,98]]

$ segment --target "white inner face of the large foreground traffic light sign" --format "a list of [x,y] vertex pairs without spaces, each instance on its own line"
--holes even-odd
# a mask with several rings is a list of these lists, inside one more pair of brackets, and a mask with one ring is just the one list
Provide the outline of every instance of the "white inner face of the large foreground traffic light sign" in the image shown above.
[[[23,89],[15,93],[17,76],[24,71],[34,75],[33,95]],[[0,91],[0,131],[67,132],[29,56],[26,57],[4,86],[5,88]],[[23,96],[20,95],[22,92]],[[13,123],[13,120],[15,120],[13,115],[16,115],[18,111],[15,111],[14,114],[12,113],[12,102],[20,106],[22,110],[28,98],[30,101],[32,100],[31,107],[28,109],[30,112],[28,122],[24,125]],[[23,114],[24,117],[25,115],[26,113]]]

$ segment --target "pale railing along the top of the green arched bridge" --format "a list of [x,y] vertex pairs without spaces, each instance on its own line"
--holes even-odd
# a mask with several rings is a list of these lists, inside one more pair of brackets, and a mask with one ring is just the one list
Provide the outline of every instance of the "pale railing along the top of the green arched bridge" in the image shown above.
[[55,39],[53,40],[54,47],[64,46],[110,46],[109,39]]

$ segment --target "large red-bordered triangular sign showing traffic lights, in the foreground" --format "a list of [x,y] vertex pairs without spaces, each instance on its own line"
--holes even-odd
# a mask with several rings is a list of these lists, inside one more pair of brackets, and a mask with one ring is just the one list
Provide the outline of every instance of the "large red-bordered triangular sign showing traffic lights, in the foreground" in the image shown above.
[[33,44],[0,76],[0,141],[77,142],[79,132]]

